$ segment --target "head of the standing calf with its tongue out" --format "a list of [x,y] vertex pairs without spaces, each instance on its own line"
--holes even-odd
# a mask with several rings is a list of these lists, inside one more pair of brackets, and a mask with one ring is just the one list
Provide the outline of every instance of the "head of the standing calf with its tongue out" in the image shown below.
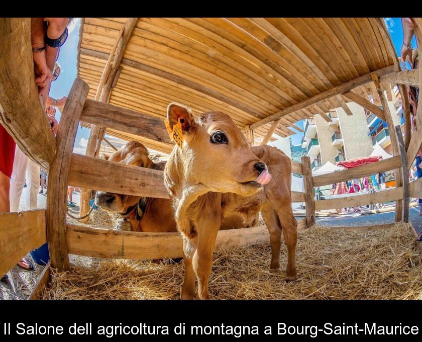
[[[198,194],[207,189],[250,196],[271,180],[267,165],[251,152],[245,136],[228,115],[207,112],[194,120],[188,108],[172,103],[167,108],[167,120],[170,128],[180,122],[184,140],[182,149],[174,147],[165,169],[165,182],[172,195],[179,193],[176,197],[181,197],[185,186],[197,185],[201,188]],[[176,183],[183,183],[183,189]]]

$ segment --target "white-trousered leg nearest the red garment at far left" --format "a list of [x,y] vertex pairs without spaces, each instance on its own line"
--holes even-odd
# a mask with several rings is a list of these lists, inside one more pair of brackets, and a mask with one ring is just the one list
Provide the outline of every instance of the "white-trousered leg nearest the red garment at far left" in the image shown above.
[[[13,173],[10,179],[10,211],[17,212],[19,210],[19,202],[21,201],[22,190],[24,189],[25,173],[28,166],[29,158],[16,146],[15,160],[13,162]],[[26,204],[28,206],[28,203]]]

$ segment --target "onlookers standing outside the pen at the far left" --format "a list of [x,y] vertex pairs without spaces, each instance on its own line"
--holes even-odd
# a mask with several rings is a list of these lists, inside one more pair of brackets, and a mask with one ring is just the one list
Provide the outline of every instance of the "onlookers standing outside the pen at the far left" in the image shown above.
[[[58,123],[55,119],[56,108],[64,107],[66,97],[53,99],[49,97],[51,83],[61,72],[57,59],[60,47],[68,36],[68,25],[73,18],[32,18],[31,44],[34,59],[35,83],[45,115],[50,122],[52,134],[57,133]],[[30,160],[18,146],[12,136],[0,124],[0,212],[16,212],[25,183],[26,209],[37,208],[37,195],[43,193],[47,183],[45,170]],[[39,190],[41,186],[41,190]],[[26,258],[20,260],[19,267],[31,271],[34,269]],[[1,281],[7,281],[7,275]]]

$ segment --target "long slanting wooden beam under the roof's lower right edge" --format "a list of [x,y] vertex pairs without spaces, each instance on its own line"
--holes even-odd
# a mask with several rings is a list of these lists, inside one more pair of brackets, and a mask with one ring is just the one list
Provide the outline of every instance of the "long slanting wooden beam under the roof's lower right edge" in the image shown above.
[[[385,75],[387,73],[392,72],[393,70],[394,70],[394,65],[390,65],[390,66],[386,66],[382,69],[375,71],[375,73],[378,76],[382,76],[382,75]],[[281,110],[281,111],[279,111],[275,114],[272,114],[272,115],[270,115],[270,116],[268,116],[268,117],[266,117],[266,118],[264,118],[264,119],[262,119],[262,120],[260,120],[256,123],[252,124],[251,129],[257,129],[258,127],[261,127],[262,125],[265,125],[265,124],[267,124],[271,121],[274,121],[274,120],[278,120],[278,119],[280,119],[281,117],[283,117],[287,114],[290,114],[290,113],[293,113],[297,110],[300,110],[300,109],[306,108],[308,106],[314,105],[314,104],[316,104],[320,101],[327,100],[327,99],[329,99],[333,96],[336,96],[336,95],[339,95],[339,94],[344,94],[348,91],[351,91],[352,89],[354,89],[356,87],[359,87],[359,85],[371,82],[371,80],[372,80],[371,74],[369,73],[369,74],[360,76],[360,77],[358,77],[354,80],[351,80],[349,82],[337,85],[336,87],[334,87],[332,89],[329,89],[329,90],[327,90],[327,91],[325,91],[321,94],[315,95],[315,96],[313,96],[313,97],[311,97],[307,100],[304,100],[302,102],[294,104],[290,107],[287,107],[287,108],[285,108],[285,109],[283,109],[283,110]]]

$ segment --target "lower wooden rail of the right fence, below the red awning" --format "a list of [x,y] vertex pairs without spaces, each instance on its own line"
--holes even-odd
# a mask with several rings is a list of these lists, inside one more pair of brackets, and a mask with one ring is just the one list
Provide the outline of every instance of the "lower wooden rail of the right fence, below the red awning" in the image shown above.
[[374,193],[343,196],[341,198],[315,201],[316,210],[350,208],[367,204],[396,201],[403,198],[403,187],[378,191]]

